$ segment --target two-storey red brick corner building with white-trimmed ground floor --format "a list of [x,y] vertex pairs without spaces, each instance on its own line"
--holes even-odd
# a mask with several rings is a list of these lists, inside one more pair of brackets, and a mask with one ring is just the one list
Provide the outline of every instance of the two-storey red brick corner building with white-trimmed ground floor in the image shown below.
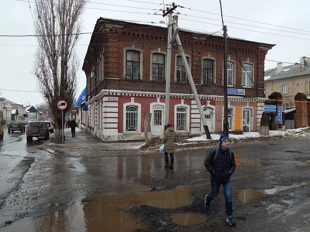
[[[223,37],[187,29],[180,29],[179,37],[209,130],[221,132]],[[240,62],[228,42],[229,130],[257,131],[264,105],[264,59],[274,45],[231,41]],[[162,24],[97,20],[82,67],[87,79],[87,127],[92,135],[103,140],[144,138],[145,113],[152,113],[152,134],[163,135],[166,52],[167,29]],[[176,45],[172,45],[169,78],[169,122],[180,137],[204,133]]]

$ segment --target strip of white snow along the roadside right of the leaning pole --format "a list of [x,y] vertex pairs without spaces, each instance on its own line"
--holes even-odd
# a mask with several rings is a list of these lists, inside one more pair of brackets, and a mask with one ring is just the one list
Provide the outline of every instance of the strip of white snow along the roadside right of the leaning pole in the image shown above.
[[[269,136],[275,136],[275,135],[290,135],[290,134],[296,134],[299,133],[301,131],[304,131],[306,128],[309,129],[309,127],[304,127],[304,128],[298,128],[298,129],[292,129],[292,130],[286,130],[286,131],[269,131]],[[239,139],[239,138],[250,138],[250,137],[265,137],[264,135],[260,135],[259,132],[246,132],[243,133],[242,135],[233,135],[230,134],[229,138],[234,138],[234,139]],[[212,134],[211,135],[211,140],[219,140],[220,135],[215,135]],[[189,141],[205,141],[208,140],[206,135],[202,135],[199,137],[194,137],[194,138],[190,138],[187,139]]]

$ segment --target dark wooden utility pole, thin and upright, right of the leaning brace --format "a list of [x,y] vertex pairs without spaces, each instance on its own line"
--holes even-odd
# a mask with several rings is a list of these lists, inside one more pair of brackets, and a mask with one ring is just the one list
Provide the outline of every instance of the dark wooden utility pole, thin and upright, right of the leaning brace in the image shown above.
[[228,96],[227,96],[227,28],[226,25],[223,26],[224,30],[224,135],[229,137],[228,129]]

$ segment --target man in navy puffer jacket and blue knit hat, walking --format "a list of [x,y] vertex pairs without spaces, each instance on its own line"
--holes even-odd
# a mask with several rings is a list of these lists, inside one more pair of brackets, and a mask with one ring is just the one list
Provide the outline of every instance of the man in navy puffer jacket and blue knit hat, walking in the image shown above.
[[219,187],[223,185],[226,221],[230,225],[235,225],[236,222],[232,219],[232,189],[230,176],[236,169],[236,163],[234,153],[229,149],[228,137],[225,135],[220,136],[219,148],[215,148],[210,151],[209,155],[206,157],[205,166],[211,174],[212,188],[212,191],[205,197],[206,209],[210,208],[211,200],[219,194]]

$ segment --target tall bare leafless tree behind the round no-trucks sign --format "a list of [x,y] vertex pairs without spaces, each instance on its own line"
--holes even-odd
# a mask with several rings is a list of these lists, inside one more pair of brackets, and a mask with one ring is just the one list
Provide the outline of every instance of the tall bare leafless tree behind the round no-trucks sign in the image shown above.
[[37,89],[55,118],[55,137],[62,134],[61,110],[57,101],[72,107],[77,92],[79,60],[74,47],[82,30],[85,0],[38,0],[34,30],[38,49],[34,55]]

